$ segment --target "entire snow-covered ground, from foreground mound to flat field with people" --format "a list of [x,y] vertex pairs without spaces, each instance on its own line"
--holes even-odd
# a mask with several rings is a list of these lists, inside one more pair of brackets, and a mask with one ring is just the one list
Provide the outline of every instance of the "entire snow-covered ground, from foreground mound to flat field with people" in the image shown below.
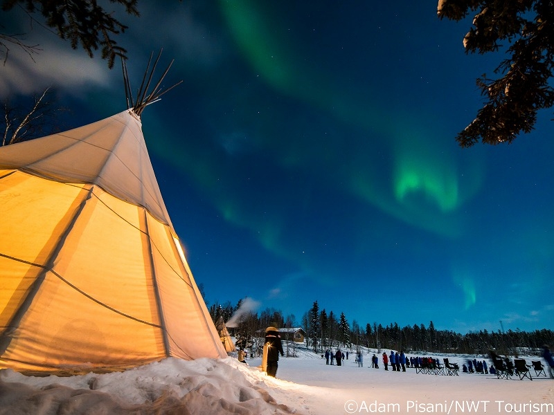
[[[4,369],[0,414],[554,414],[554,380],[535,378],[534,371],[533,381],[434,376],[384,371],[380,359],[371,369],[372,355],[364,356],[363,368],[352,354],[337,367],[298,350],[296,358],[280,358],[277,378],[260,371],[260,359],[247,366],[231,357],[168,358],[123,373],[66,378]],[[466,360],[449,358],[460,366]]]

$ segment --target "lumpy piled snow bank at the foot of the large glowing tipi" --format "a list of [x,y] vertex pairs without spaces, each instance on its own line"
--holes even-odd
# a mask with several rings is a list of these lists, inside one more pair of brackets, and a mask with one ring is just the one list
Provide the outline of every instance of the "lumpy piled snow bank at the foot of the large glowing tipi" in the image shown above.
[[0,371],[0,414],[291,414],[238,361],[168,358],[112,374],[44,378]]

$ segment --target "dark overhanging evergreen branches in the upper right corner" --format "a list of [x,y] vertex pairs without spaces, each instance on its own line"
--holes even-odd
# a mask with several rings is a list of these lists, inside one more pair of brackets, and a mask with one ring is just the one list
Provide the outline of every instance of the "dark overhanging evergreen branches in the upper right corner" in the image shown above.
[[[551,0],[439,0],[438,16],[474,19],[463,38],[466,53],[488,53],[508,46],[501,64],[477,79],[485,97],[483,108],[456,140],[461,147],[481,141],[512,142],[535,127],[537,111],[554,105],[549,81],[554,69],[554,7]],[[504,42],[504,44],[503,44]]]

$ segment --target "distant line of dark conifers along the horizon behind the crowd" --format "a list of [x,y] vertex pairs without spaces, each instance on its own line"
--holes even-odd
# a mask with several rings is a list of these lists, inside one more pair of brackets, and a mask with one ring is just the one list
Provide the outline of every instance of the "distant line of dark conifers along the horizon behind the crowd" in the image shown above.
[[[282,328],[301,327],[306,333],[305,342],[314,352],[320,353],[330,348],[368,347],[370,349],[397,350],[406,353],[413,351],[429,353],[467,353],[487,354],[494,349],[502,355],[517,356],[522,350],[538,351],[544,344],[554,344],[554,331],[540,329],[534,331],[498,330],[468,331],[465,334],[452,330],[435,329],[433,321],[424,324],[400,327],[397,322],[387,325],[367,322],[364,325],[352,320],[348,323],[346,315],[337,315],[333,311],[327,312],[319,308],[315,301],[312,308],[306,311],[297,322],[293,314],[284,315],[283,311],[275,308],[265,308],[257,311],[241,309],[243,300],[233,306],[231,302],[212,304],[209,312],[215,323],[220,317],[225,323],[231,320],[233,325],[228,327],[237,339],[238,347],[249,347],[256,344],[256,339],[263,337],[262,331],[267,326],[275,325]],[[239,318],[238,315],[240,315]]]

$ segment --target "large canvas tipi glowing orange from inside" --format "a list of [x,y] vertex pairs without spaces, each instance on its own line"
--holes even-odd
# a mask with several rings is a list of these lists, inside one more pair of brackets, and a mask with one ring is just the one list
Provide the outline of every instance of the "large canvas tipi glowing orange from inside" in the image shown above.
[[0,147],[0,369],[226,356],[129,109]]

